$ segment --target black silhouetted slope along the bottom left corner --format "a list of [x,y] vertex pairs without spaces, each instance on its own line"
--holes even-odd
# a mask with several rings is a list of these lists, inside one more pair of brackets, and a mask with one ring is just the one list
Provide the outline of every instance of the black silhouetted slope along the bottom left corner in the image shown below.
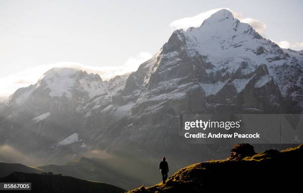
[[101,182],[81,180],[59,174],[14,172],[0,182],[31,182],[28,193],[124,193],[125,190]]

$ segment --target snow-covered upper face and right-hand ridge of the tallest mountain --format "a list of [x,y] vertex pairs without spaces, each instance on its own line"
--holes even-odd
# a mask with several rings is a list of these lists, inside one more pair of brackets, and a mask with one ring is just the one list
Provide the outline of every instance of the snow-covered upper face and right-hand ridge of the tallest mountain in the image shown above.
[[[282,49],[274,42],[263,39],[253,28],[246,23],[241,23],[234,18],[232,13],[222,9],[208,19],[198,28],[189,28],[187,31],[177,30],[173,33],[178,40],[184,42],[184,48],[190,57],[204,56],[211,66],[206,68],[207,74],[222,72],[235,74],[243,65],[242,75],[253,73],[260,64],[266,64],[269,75],[278,82],[282,95],[285,97],[285,83],[283,83],[275,71],[276,67],[287,63],[295,63],[302,67],[303,58],[299,52]],[[238,78],[241,81],[243,78]],[[247,81],[247,78],[243,79]],[[209,81],[207,79],[206,81]],[[300,86],[302,87],[302,82]],[[220,84],[218,82],[205,82]]]

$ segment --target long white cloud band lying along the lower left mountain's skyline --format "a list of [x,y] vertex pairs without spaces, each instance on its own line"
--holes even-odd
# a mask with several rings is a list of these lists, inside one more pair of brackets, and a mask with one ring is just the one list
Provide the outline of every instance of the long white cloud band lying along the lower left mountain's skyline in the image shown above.
[[139,65],[152,57],[148,52],[140,52],[136,56],[130,56],[124,64],[120,66],[88,66],[75,62],[58,62],[55,64],[40,65],[30,67],[24,71],[10,74],[6,77],[0,77],[0,96],[3,98],[12,94],[18,88],[34,84],[37,80],[48,70],[54,67],[68,67],[75,68],[88,73],[99,74],[103,80],[110,79],[117,75],[123,75],[134,72],[138,69]]

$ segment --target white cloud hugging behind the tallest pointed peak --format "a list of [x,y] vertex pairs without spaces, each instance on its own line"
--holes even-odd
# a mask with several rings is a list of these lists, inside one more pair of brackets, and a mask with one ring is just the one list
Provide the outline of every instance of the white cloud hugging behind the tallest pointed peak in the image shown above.
[[182,19],[175,20],[169,24],[169,26],[173,30],[177,29],[188,29],[189,27],[199,27],[201,26],[202,22],[210,17],[213,13],[219,11],[220,9],[227,9],[234,15],[235,18],[238,18],[243,23],[250,24],[253,29],[255,29],[258,33],[263,34],[266,29],[266,25],[262,23],[261,21],[258,21],[253,18],[244,18],[242,16],[242,13],[235,12],[231,10],[230,8],[217,8],[217,9],[211,9],[209,11],[202,12],[198,15],[195,15],[193,17],[184,17]]

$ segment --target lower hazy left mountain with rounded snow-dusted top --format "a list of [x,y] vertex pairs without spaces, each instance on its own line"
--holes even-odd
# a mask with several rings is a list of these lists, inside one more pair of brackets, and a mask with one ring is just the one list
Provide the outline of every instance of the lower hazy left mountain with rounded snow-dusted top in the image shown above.
[[70,144],[80,149],[75,152],[86,151],[90,130],[83,128],[101,124],[99,115],[93,118],[95,112],[111,104],[112,94],[123,87],[126,78],[103,82],[97,74],[52,68],[36,84],[18,89],[2,106],[0,141],[27,152],[52,151]]

